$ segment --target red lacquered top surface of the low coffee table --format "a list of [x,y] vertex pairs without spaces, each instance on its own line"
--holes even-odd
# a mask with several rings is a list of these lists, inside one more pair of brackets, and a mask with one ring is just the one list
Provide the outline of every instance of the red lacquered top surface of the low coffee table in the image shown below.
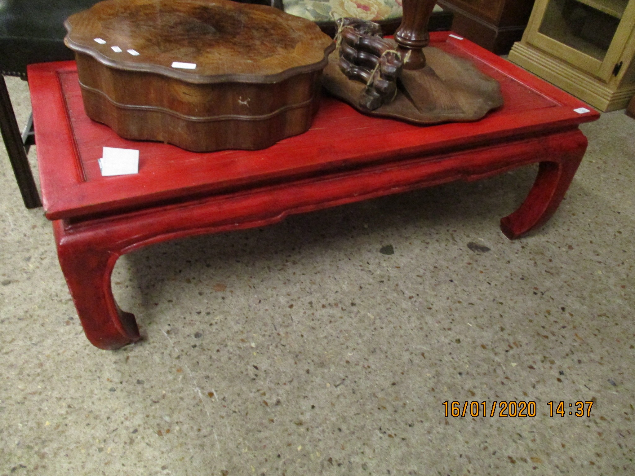
[[[598,119],[585,103],[467,41],[431,34],[431,46],[468,58],[501,85],[505,105],[478,122],[413,126],[324,98],[313,126],[269,149],[196,153],[129,141],[84,113],[75,62],[29,66],[37,159],[47,218],[114,213],[188,197],[286,182],[364,164],[548,134]],[[586,107],[579,114],[575,109]],[[139,173],[102,177],[102,147],[138,149]]]

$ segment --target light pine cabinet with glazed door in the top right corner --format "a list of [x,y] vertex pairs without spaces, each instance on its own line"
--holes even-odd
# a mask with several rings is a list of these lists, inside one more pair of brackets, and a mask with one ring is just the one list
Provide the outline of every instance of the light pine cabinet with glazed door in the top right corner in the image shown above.
[[509,60],[603,110],[635,94],[635,0],[537,0]]

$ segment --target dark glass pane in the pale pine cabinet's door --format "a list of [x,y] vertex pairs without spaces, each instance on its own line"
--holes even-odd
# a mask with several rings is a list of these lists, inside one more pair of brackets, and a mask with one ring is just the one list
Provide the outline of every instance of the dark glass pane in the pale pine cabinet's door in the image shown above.
[[538,31],[604,60],[629,0],[549,0]]

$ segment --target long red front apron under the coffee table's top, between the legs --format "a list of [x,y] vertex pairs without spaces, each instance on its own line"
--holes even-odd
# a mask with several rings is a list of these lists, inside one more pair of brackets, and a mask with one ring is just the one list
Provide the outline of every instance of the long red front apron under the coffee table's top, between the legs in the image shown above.
[[[286,216],[455,180],[480,180],[535,162],[576,160],[579,129],[447,155],[389,162],[79,222],[54,221],[58,246],[123,255],[180,237],[276,223]],[[577,159],[579,160],[579,158]]]

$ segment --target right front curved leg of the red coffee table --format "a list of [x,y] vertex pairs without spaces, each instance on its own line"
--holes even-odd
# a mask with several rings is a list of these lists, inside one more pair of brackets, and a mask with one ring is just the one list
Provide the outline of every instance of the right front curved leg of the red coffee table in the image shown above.
[[518,238],[551,218],[584,157],[587,139],[576,131],[561,143],[565,150],[554,151],[551,161],[540,162],[538,176],[523,204],[500,220],[500,229],[509,239]]

